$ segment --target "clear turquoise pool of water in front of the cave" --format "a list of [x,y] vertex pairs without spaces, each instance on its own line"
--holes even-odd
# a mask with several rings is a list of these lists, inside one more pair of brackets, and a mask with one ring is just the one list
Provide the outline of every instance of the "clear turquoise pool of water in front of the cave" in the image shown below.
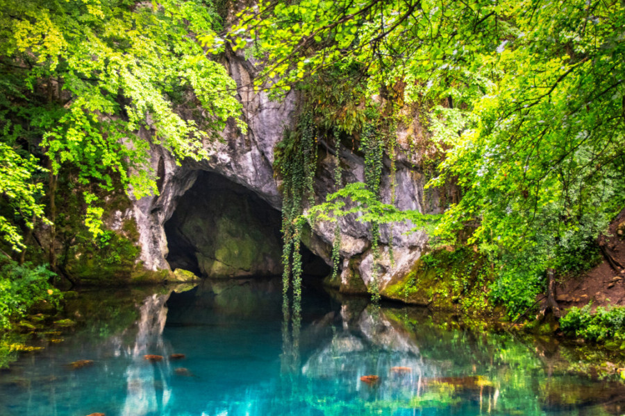
[[578,375],[575,351],[549,338],[315,291],[301,325],[285,325],[276,281],[161,292],[74,301],[78,327],[52,335],[62,343],[0,372],[0,415],[625,413],[622,383]]

